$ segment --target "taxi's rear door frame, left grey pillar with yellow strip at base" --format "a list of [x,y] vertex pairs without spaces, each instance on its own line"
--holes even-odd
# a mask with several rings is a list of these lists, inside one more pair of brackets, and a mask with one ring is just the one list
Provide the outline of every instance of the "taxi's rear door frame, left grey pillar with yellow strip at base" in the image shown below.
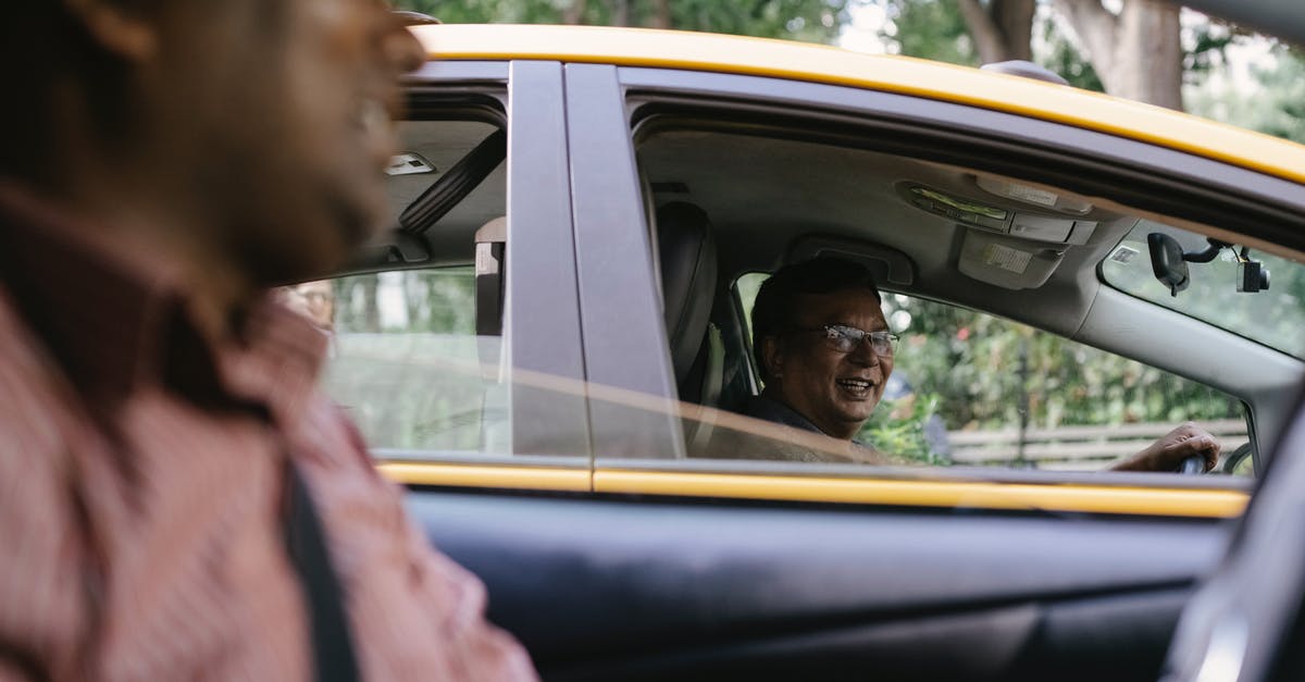
[[590,426],[561,64],[429,61],[406,78],[406,88],[419,116],[429,115],[423,107],[438,106],[423,98],[491,97],[506,122],[502,357],[512,453],[440,453],[380,466],[410,485],[589,490]]

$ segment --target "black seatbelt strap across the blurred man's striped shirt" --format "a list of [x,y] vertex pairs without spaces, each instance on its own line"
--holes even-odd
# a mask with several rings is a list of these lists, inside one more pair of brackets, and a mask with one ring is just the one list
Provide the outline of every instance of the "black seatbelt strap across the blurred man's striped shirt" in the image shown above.
[[308,605],[315,679],[356,682],[360,675],[345,619],[345,592],[331,568],[321,519],[294,464],[288,465],[287,478],[286,549]]

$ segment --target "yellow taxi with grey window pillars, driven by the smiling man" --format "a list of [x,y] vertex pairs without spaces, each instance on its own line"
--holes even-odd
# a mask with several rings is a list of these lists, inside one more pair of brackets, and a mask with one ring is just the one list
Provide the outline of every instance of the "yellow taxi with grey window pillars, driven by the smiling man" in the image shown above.
[[[416,34],[328,387],[545,678],[1156,677],[1295,418],[1305,149],[821,46]],[[758,284],[830,255],[876,273],[917,398],[1005,392],[907,409],[937,438],[873,461],[744,417]],[[1195,397],[1137,423],[1147,382]],[[1100,470],[1186,419],[1214,472]]]

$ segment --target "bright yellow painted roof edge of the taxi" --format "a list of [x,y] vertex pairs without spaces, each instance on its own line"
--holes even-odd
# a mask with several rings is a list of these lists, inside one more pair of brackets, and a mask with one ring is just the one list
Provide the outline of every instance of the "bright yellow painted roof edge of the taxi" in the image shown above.
[[547,59],[850,85],[1105,132],[1305,183],[1305,146],[1078,88],[837,47],[652,29],[540,25],[414,27],[432,60]]

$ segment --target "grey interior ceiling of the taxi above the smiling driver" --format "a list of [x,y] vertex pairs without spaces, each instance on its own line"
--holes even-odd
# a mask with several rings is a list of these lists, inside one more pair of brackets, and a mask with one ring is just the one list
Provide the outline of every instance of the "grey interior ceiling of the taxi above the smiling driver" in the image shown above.
[[[495,131],[493,124],[482,122],[406,122],[402,133],[412,141],[406,152],[425,158],[435,172],[390,179],[390,205],[395,206],[392,223],[403,225],[410,206],[432,193],[432,178],[436,184],[445,183],[448,172],[466,163]],[[796,238],[822,234],[906,253],[919,273],[914,294],[988,307],[1000,303],[1002,287],[976,287],[954,267],[964,230],[954,219],[912,205],[906,186],[972,197],[1013,212],[1030,208],[981,189],[976,174],[967,169],[788,138],[669,131],[649,138],[638,154],[656,205],[684,201],[706,213],[720,244],[719,273],[726,282],[745,272],[773,270],[786,260]],[[437,260],[470,261],[475,230],[502,214],[505,174],[505,165],[495,165],[483,182],[449,193],[455,200],[446,199],[436,217],[438,229],[428,230],[424,222],[418,230],[405,230],[422,231]],[[1081,247],[1051,246],[1065,259],[1039,289],[1079,289],[1078,273],[1095,267],[1135,221],[1101,208],[1100,201],[1086,201],[1094,204],[1091,212],[1070,217],[1096,222],[1095,231]],[[983,295],[967,295],[976,289]],[[1037,298],[1022,299],[1010,312],[1028,315],[1028,303],[1036,310]],[[1057,315],[1048,319],[1067,320],[1066,329],[1037,320],[1036,314],[1030,321],[1061,332],[1079,321],[1066,316],[1064,298],[1052,307]],[[1000,306],[996,311],[1004,312]]]

